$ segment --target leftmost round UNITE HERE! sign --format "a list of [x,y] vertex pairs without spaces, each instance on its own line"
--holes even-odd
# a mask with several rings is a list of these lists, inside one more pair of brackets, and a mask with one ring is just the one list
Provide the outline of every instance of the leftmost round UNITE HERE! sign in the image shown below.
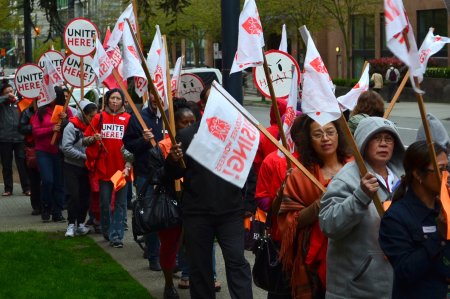
[[32,99],[38,97],[43,77],[42,69],[37,64],[23,64],[19,67],[14,77],[17,92],[24,98]]

